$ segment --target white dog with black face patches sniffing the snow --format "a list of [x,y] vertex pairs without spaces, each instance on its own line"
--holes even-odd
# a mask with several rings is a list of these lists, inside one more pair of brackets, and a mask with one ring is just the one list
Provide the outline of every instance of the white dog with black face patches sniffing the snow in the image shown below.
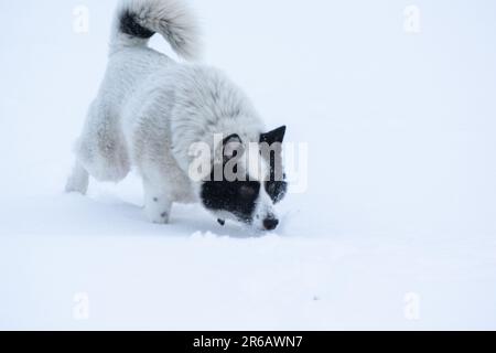
[[[191,62],[150,49],[157,33]],[[198,38],[195,18],[181,0],[119,2],[108,67],[76,142],[66,191],[86,194],[89,176],[119,182],[136,168],[144,212],[153,223],[168,224],[173,203],[201,203],[222,225],[233,220],[273,231],[279,225],[274,205],[288,185],[285,175],[277,172],[282,168],[280,149],[267,154],[260,146],[282,143],[285,127],[265,132],[239,87],[220,71],[192,63],[200,56]],[[214,153],[198,157],[192,148],[198,143]],[[251,163],[257,168],[247,158],[254,145],[265,154]],[[191,172],[198,160],[209,167],[201,179]],[[234,160],[241,178],[213,178],[214,170]]]

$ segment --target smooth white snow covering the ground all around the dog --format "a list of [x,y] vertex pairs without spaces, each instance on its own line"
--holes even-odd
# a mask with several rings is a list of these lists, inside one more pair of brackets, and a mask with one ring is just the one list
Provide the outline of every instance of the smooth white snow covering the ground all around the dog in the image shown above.
[[496,329],[496,3],[414,1],[413,34],[411,1],[193,2],[306,191],[267,235],[149,224],[136,175],[64,194],[116,1],[1,1],[0,328]]

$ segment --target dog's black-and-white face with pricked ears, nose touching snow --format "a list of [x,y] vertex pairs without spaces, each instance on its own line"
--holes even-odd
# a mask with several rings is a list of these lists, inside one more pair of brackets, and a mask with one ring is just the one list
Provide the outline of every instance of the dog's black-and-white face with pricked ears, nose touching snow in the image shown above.
[[[256,159],[247,157],[252,151],[247,153],[237,135],[224,140],[222,178],[215,178],[215,169],[220,165],[214,165],[209,180],[203,182],[201,190],[204,206],[219,218],[220,224],[225,220],[235,220],[262,231],[277,228],[279,218],[274,205],[284,197],[288,188],[280,150],[284,133],[285,127],[262,133],[257,151],[262,158]],[[233,171],[236,176],[227,175],[226,171]]]

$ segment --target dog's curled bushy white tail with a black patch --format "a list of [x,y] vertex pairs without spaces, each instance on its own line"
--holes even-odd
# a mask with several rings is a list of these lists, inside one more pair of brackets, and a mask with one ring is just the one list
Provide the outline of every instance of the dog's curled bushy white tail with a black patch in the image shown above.
[[120,0],[111,47],[143,46],[160,33],[186,60],[200,56],[197,22],[185,0]]

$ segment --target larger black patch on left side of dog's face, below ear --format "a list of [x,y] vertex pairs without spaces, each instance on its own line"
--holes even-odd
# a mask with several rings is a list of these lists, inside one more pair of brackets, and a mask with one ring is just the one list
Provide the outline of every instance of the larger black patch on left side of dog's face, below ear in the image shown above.
[[249,224],[254,221],[260,188],[258,181],[206,181],[201,197],[207,210],[228,212]]

